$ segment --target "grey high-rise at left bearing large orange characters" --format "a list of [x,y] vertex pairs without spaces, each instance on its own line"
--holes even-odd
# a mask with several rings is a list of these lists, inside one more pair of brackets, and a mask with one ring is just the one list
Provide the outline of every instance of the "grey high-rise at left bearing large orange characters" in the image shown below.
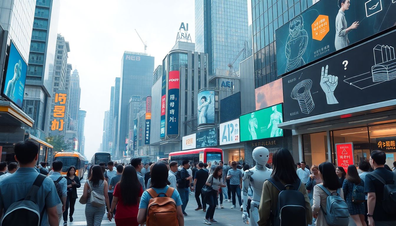
[[[67,109],[69,109],[69,82],[68,75],[67,75],[67,58],[68,53],[70,52],[69,42],[65,41],[65,37],[58,34],[57,41],[56,41],[56,52],[55,52],[55,62],[53,68],[53,75],[52,75],[52,88],[51,90],[51,101],[50,101],[50,111],[48,112],[48,133],[47,136],[51,135],[65,135],[68,120]],[[71,65],[70,65],[71,66]],[[70,75],[70,70],[69,70]],[[69,78],[70,80],[70,78]],[[58,101],[56,99],[55,93],[65,93],[66,94],[66,103],[64,109],[64,116],[63,117],[54,117],[53,110],[55,109],[55,105],[59,106]],[[53,124],[59,125],[53,126]]]

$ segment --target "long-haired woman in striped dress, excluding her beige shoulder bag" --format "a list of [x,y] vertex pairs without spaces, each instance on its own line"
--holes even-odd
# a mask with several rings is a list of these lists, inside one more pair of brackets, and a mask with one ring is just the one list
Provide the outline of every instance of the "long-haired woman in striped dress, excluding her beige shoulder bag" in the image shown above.
[[[94,165],[91,167],[91,177],[84,185],[84,193],[82,198],[87,199],[87,205],[85,207],[85,217],[87,218],[87,226],[100,226],[102,224],[103,215],[105,215],[106,207],[109,207],[109,195],[107,194],[108,186],[105,178],[103,177],[102,167]],[[89,183],[89,185],[88,185]],[[105,196],[106,205],[102,207],[94,207],[91,205],[90,191],[95,191],[100,195]]]

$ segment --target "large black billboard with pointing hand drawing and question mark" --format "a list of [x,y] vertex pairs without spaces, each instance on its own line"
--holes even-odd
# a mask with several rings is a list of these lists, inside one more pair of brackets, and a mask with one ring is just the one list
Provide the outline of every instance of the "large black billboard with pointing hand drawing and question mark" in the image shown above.
[[285,121],[396,98],[396,31],[283,78]]

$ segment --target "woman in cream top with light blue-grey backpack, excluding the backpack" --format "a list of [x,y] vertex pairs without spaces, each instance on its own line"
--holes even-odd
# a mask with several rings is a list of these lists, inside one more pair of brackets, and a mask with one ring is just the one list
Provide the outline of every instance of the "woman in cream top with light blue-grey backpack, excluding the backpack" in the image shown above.
[[314,186],[314,204],[312,205],[312,216],[316,218],[316,226],[328,226],[324,216],[324,213],[327,213],[326,204],[327,197],[329,197],[327,192],[335,195],[338,190],[339,194],[337,195],[342,199],[344,199],[344,193],[340,188],[341,186],[339,185],[339,177],[334,171],[333,164],[326,161],[321,163],[318,169],[319,177],[323,182]]

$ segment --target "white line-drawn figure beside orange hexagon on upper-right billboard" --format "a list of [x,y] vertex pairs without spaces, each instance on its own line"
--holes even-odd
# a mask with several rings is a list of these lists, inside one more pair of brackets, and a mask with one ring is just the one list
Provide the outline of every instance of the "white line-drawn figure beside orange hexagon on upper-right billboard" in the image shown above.
[[287,37],[285,53],[287,65],[285,72],[305,65],[303,54],[308,46],[308,33],[304,29],[303,16],[298,15],[290,21],[289,36]]

